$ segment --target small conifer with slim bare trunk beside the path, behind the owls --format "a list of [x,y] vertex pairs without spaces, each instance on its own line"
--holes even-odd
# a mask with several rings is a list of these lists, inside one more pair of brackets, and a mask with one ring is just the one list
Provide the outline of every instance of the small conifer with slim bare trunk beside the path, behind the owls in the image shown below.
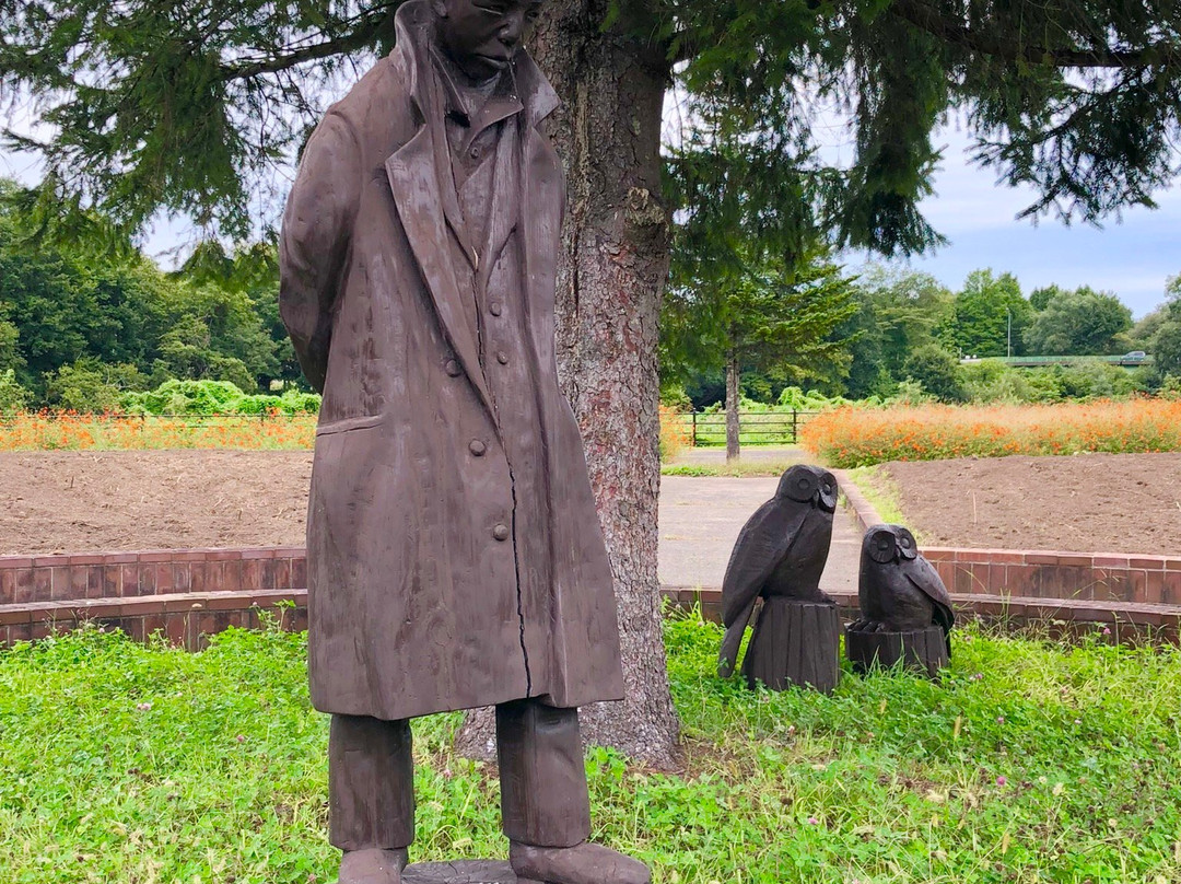
[[663,364],[670,373],[725,372],[726,460],[732,461],[740,450],[743,371],[792,379],[840,376],[847,368],[848,342],[833,339],[833,330],[856,311],[853,280],[821,255],[798,267],[763,255],[722,274],[687,256],[685,264],[692,272],[674,277],[661,312]]

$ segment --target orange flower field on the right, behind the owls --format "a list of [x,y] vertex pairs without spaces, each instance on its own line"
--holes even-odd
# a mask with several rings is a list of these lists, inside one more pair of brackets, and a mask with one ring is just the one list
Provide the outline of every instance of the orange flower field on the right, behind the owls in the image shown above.
[[801,444],[831,467],[973,455],[1176,451],[1181,401],[850,407],[816,415],[800,435]]

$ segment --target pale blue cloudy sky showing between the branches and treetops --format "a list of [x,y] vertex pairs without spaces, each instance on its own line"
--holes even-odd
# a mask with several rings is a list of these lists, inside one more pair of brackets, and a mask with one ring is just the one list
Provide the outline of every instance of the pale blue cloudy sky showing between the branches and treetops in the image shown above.
[[[841,154],[848,142],[837,137],[828,150]],[[922,210],[950,243],[934,253],[903,264],[935,277],[958,290],[973,269],[991,267],[1011,272],[1027,295],[1035,288],[1057,284],[1065,288],[1088,285],[1114,292],[1135,318],[1154,310],[1164,298],[1168,277],[1181,274],[1181,184],[1155,196],[1160,208],[1134,208],[1122,220],[1108,219],[1102,228],[1056,219],[1037,225],[1018,221],[1032,190],[998,184],[996,174],[968,162],[968,139],[963,131],[946,128],[937,132],[944,147],[934,195]],[[1174,163],[1181,167],[1181,152]],[[38,164],[28,155],[0,151],[0,175],[34,182]],[[165,267],[174,267],[177,252],[194,240],[183,221],[161,220],[145,238],[144,248]],[[855,268],[864,255],[846,255]]]

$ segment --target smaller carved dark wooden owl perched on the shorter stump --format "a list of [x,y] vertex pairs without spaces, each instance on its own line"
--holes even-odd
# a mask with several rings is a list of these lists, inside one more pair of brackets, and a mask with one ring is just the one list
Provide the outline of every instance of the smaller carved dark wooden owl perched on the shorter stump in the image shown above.
[[875,525],[866,532],[857,598],[861,619],[850,631],[914,632],[938,625],[951,655],[955,613],[947,587],[901,525]]

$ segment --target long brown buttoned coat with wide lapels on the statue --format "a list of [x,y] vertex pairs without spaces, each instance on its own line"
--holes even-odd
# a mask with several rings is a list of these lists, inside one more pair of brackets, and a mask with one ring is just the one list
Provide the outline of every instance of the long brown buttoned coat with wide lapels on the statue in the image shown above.
[[[424,2],[399,8],[394,51],[320,123],[283,216],[280,310],[324,392],[307,520],[312,702],[394,720],[527,696],[618,700],[611,568],[554,359],[565,184],[536,125],[556,96],[520,52],[523,110],[496,157],[481,260],[452,225],[429,27]],[[530,383],[495,401],[477,290],[524,330],[511,356]],[[537,424],[526,428],[536,462],[510,467],[511,415]],[[528,474],[524,501],[515,473]]]

